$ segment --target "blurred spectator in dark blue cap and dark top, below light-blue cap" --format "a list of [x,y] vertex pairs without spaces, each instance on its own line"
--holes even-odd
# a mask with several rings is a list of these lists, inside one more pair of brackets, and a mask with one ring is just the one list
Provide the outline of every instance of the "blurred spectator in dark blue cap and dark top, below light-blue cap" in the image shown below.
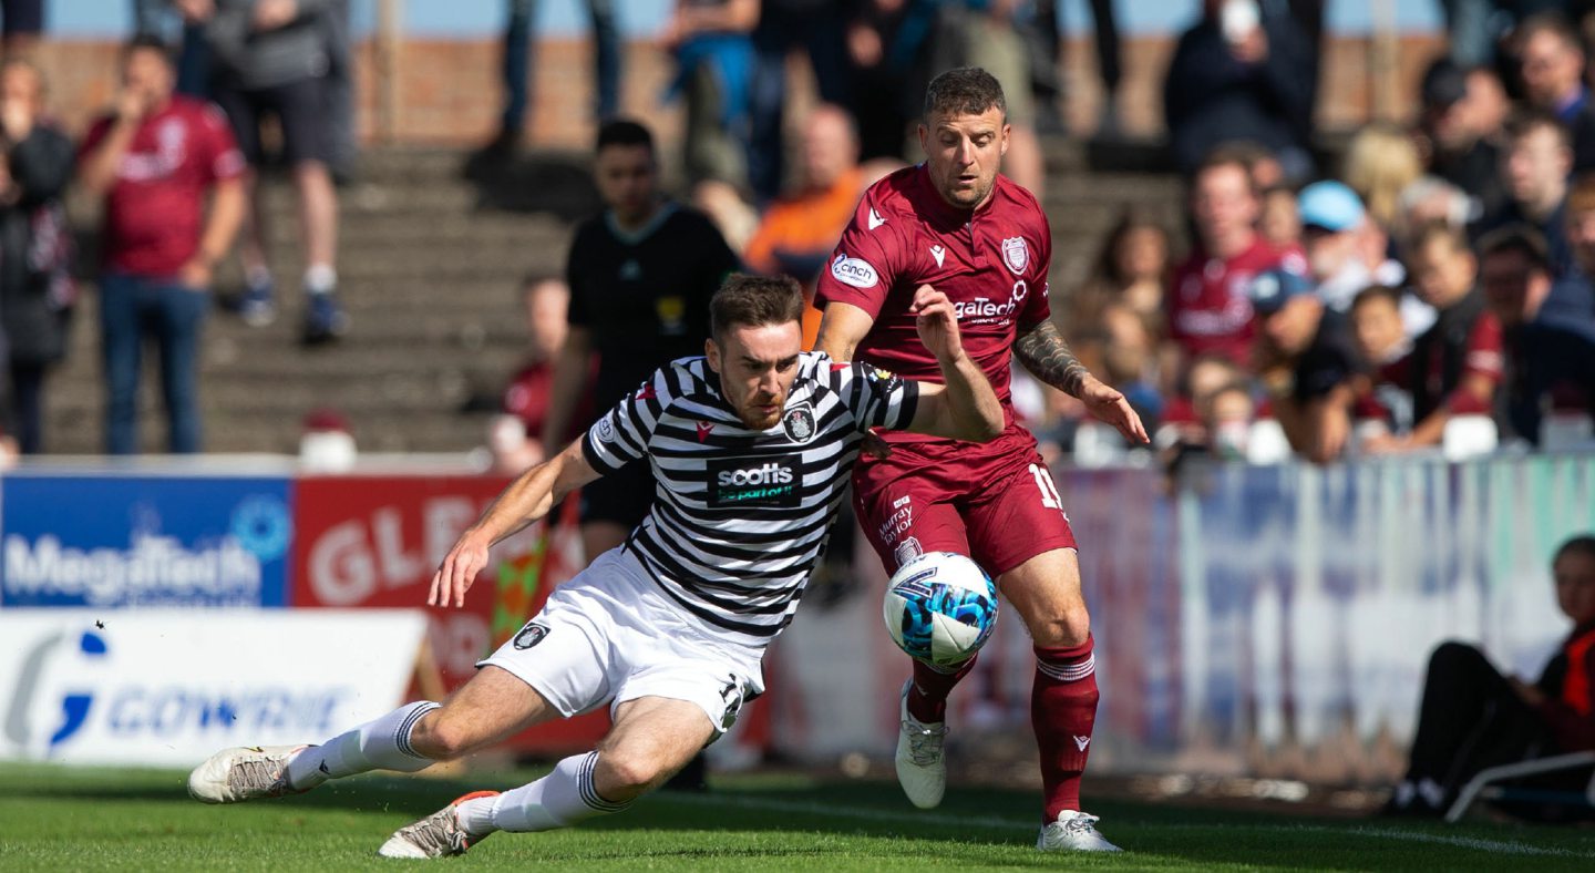
[[1351,436],[1357,353],[1346,316],[1289,270],[1268,270],[1249,290],[1258,329],[1258,378],[1290,447],[1316,463],[1340,456]]

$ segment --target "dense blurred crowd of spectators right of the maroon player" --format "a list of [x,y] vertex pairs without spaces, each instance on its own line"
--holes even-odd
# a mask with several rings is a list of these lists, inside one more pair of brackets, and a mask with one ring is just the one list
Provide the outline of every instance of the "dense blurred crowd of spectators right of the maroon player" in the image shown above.
[[[1595,19],[1574,11],[1520,18],[1467,65],[1434,59],[1410,126],[1324,158],[1297,16],[1204,5],[1164,89],[1188,254],[1126,211],[1093,278],[1053,292],[1166,458],[1595,445]],[[1067,401],[1032,415],[1077,461],[1124,458]]]

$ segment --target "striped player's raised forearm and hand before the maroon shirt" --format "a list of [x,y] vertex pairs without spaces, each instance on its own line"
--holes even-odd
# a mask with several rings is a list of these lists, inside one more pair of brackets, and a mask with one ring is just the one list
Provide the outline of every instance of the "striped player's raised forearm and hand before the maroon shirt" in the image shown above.
[[909,311],[919,342],[936,356],[946,385],[919,383],[919,405],[908,429],[920,434],[987,442],[1003,431],[1002,404],[990,380],[963,351],[959,316],[947,295],[919,286]]

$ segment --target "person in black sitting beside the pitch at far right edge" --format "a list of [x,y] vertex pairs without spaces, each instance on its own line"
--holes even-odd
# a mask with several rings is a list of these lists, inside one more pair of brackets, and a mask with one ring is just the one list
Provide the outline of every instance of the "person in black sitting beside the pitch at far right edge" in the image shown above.
[[1388,814],[1439,817],[1485,768],[1595,749],[1595,536],[1563,543],[1552,575],[1573,632],[1539,681],[1501,675],[1466,643],[1434,650],[1407,776]]

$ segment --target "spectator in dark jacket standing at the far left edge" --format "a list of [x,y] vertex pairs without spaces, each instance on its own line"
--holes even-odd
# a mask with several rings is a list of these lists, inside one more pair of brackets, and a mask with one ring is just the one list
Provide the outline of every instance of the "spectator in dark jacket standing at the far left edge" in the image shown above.
[[45,372],[65,356],[67,318],[77,298],[62,195],[77,148],[49,126],[45,81],[27,61],[0,65],[0,324],[11,367],[18,445],[43,450]]

